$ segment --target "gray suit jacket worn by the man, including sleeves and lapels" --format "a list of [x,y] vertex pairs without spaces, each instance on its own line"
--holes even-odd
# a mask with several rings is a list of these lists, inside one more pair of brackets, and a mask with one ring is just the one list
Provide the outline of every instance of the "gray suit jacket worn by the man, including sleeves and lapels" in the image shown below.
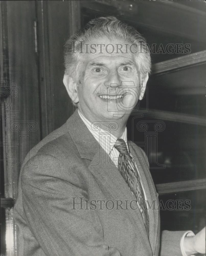
[[[129,148],[151,205],[158,199],[149,169],[141,167],[145,153],[134,143]],[[102,154],[108,157],[77,111],[30,151],[14,208],[19,256],[159,255],[158,210],[149,210],[148,237],[140,211],[129,207],[134,198],[128,185],[110,161],[101,161]],[[79,209],[74,202],[81,200]],[[108,204],[100,207],[97,200]],[[161,255],[181,255],[182,234],[164,231]]]

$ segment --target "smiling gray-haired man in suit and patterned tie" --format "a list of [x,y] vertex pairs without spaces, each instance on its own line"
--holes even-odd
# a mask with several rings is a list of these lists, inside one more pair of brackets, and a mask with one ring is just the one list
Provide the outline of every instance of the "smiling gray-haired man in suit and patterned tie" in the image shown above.
[[77,110],[31,150],[34,168],[21,170],[20,256],[204,252],[204,230],[163,231],[160,248],[146,156],[127,140],[150,67],[145,39],[115,17],[91,20],[66,42],[63,82]]

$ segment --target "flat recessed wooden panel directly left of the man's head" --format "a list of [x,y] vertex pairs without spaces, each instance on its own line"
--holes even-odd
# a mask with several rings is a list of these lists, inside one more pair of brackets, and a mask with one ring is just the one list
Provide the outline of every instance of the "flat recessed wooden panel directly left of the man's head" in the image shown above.
[[70,35],[69,1],[49,1],[48,31],[50,51],[50,81],[54,129],[61,126],[73,113],[73,105],[63,85],[63,47]]

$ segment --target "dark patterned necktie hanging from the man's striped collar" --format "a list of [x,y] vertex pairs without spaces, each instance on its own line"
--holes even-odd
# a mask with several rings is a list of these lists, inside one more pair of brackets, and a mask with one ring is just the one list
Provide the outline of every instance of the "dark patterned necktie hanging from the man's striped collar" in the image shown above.
[[118,169],[129,186],[135,199],[138,201],[142,218],[146,227],[147,234],[149,235],[149,215],[146,207],[144,192],[140,182],[140,176],[135,167],[134,160],[130,156],[127,145],[122,139],[117,139],[114,147],[120,152],[118,158]]

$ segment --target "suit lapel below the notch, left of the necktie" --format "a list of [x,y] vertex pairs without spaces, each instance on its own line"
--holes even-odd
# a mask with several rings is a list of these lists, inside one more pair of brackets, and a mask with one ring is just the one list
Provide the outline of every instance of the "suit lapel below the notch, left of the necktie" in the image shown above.
[[[110,158],[108,158],[106,152],[104,153],[106,156],[106,161],[99,161],[99,159],[101,159],[101,149],[100,152],[98,150],[98,152],[95,154],[90,164],[91,173],[95,176],[97,182],[99,183],[99,186],[110,194],[108,198],[109,200],[121,200],[123,201],[123,205],[125,205],[124,203],[128,201],[129,210],[119,210],[119,214],[126,215],[126,217],[130,220],[132,228],[137,234],[137,237],[142,238],[142,241],[145,243],[146,248],[150,248],[150,241],[147,236],[141,212],[138,209],[130,209],[130,202],[132,200],[135,200],[132,196],[130,188],[124,181],[118,168],[116,168],[113,162],[107,161],[107,159]],[[133,202],[132,207],[135,207],[135,202]]]

